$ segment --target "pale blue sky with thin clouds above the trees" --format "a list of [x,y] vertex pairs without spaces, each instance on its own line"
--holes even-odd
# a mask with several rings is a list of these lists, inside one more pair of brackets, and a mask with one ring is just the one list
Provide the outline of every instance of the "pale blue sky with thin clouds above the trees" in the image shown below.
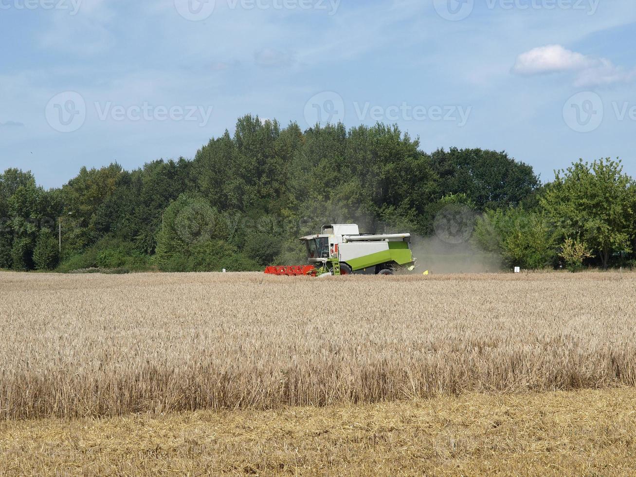
[[636,176],[633,0],[0,0],[0,169],[191,158],[246,113]]

